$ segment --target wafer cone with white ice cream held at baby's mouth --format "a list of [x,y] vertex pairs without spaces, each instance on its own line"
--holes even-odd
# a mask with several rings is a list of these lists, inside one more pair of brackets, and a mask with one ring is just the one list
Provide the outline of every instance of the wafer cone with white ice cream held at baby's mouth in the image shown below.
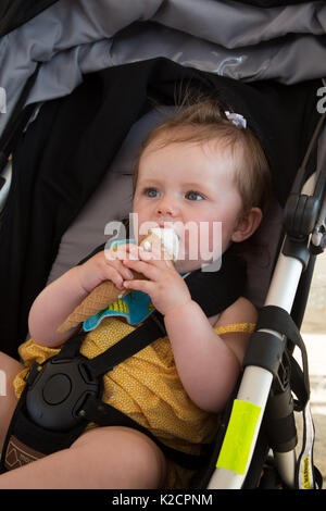
[[[171,230],[171,229],[170,229]],[[142,238],[139,246],[145,250],[159,249],[164,251],[165,259],[175,260],[177,257],[177,237],[175,233],[166,236],[164,229],[151,229],[149,234]],[[134,273],[135,279],[145,279],[146,277],[140,273]],[[87,317],[97,314],[111,303],[115,302],[118,298],[123,298],[130,289],[118,289],[111,281],[105,281],[97,286],[83,302],[68,315],[65,322],[58,328],[59,334],[63,334],[68,329],[77,326],[79,323],[87,320]]]

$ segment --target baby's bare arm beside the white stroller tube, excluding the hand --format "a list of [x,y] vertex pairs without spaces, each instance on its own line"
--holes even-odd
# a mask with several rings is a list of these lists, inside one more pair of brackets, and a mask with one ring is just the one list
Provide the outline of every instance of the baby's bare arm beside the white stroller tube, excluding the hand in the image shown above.
[[[255,308],[239,298],[221,314],[214,326],[255,321]],[[217,336],[193,301],[168,311],[165,326],[180,379],[190,398],[202,410],[223,409],[239,376],[249,334]]]

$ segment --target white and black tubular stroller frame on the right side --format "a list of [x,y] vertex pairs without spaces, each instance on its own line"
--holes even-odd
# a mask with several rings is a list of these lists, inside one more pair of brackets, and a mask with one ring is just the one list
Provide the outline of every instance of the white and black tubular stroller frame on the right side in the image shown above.
[[[281,308],[288,314],[290,314],[292,310],[300,278],[302,276],[302,273],[306,270],[310,263],[310,259],[312,258],[311,263],[314,264],[314,256],[323,251],[323,248],[318,247],[318,242],[321,241],[319,235],[325,233],[325,164],[324,166],[319,165],[319,169],[316,170],[316,175],[314,175],[314,189],[309,190],[302,188],[301,190],[301,186],[304,183],[305,164],[309,160],[309,157],[316,142],[317,137],[321,135],[324,121],[325,114],[321,117],[315,128],[315,133],[312,137],[310,147],[308,148],[301,169],[293,184],[291,195],[287,202],[285,213],[286,235],[264,303],[264,308],[275,306],[277,308]],[[324,135],[325,133],[326,132],[324,128]],[[318,149],[318,161],[325,162],[325,149],[323,150],[322,144],[319,145]],[[310,203],[308,203],[308,207],[305,209],[300,209],[299,202],[303,201],[304,203],[306,203],[306,199],[309,198],[311,199],[311,201]],[[287,278],[288,281],[288,287],[286,290],[283,286],[285,278]],[[244,364],[247,364],[247,366],[244,367],[243,376],[241,378],[240,387],[236,399],[237,401],[246,403],[246,408],[248,408],[249,410],[247,417],[249,421],[251,421],[251,425],[253,425],[253,431],[251,432],[251,437],[249,438],[246,437],[246,435],[244,438],[242,437],[242,439],[240,437],[237,438],[242,445],[239,445],[236,441],[234,444],[227,445],[227,449],[234,449],[234,452],[229,453],[230,460],[237,460],[236,450],[241,448],[247,450],[246,470],[236,472],[235,469],[231,470],[223,466],[223,462],[220,462],[220,458],[216,463],[216,470],[213,473],[210,484],[208,486],[209,489],[242,488],[250,468],[258,436],[260,433],[260,427],[262,424],[263,414],[269,397],[271,387],[273,385],[273,379],[276,375],[275,366],[265,369],[264,366],[260,366],[259,364],[259,359],[254,354],[254,339],[256,335],[260,336],[260,342],[264,342],[264,340],[267,341],[264,349],[272,350],[272,360],[274,358],[273,346],[268,344],[268,338],[271,338],[272,336],[272,338],[274,339],[279,339],[279,342],[277,342],[279,344],[279,351],[277,353],[279,364],[281,362],[281,356],[287,346],[286,336],[277,329],[260,328],[251,335],[250,345],[246,354],[247,362],[244,360]],[[251,357],[253,360],[258,361],[258,365],[250,364],[249,361]],[[250,410],[252,409],[252,407],[254,407],[255,410],[260,410],[258,416],[255,414],[251,414]],[[258,409],[255,407],[258,407]],[[289,413],[292,413],[290,403],[289,407]],[[303,413],[308,434],[313,437],[314,432],[309,401],[305,404]],[[234,420],[237,421],[237,419]],[[229,427],[230,425],[228,425],[228,428]],[[286,487],[296,488],[299,486],[310,489],[313,489],[315,487],[313,475],[314,468],[312,464],[312,460],[310,460],[309,476],[306,481],[303,481],[302,475],[302,471],[308,470],[306,462],[305,469],[303,469],[303,466],[301,466],[301,470],[300,466],[298,468],[299,462],[297,461],[297,456],[293,448],[284,452],[274,451],[274,460],[280,479],[286,485]],[[235,468],[234,461],[231,461],[231,466]],[[300,481],[298,479],[298,477]]]

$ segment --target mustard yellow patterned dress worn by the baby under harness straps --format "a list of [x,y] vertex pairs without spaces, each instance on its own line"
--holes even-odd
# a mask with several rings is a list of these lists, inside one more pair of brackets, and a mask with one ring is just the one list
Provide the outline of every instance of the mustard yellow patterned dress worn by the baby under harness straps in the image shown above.
[[[252,332],[254,325],[234,324],[216,329]],[[80,352],[91,359],[135,329],[120,317],[105,317],[89,332]],[[24,369],[14,379],[16,396],[25,386],[24,376],[34,363],[42,363],[60,349],[37,345],[33,339],[20,347]],[[129,415],[170,447],[198,453],[202,443],[213,439],[218,416],[200,410],[186,394],[176,370],[167,337],[152,342],[103,376],[104,402]],[[167,460],[166,488],[187,488],[192,473]]]

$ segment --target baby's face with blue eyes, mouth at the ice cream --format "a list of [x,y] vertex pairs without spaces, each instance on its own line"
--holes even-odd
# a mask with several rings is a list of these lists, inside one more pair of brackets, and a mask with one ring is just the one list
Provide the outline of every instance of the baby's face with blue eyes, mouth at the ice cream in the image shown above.
[[[180,239],[176,267],[215,260],[233,239],[242,210],[234,160],[218,142],[152,142],[141,155],[134,198],[138,234],[173,227]],[[153,225],[150,225],[152,223]]]

